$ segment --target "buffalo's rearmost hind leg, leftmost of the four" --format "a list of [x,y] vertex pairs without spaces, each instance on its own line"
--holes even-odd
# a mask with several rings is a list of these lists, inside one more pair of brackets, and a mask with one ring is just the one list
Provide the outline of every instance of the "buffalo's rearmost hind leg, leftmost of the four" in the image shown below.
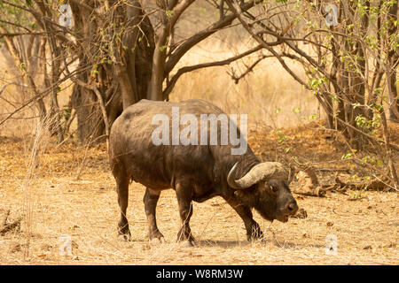
[[118,234],[123,240],[130,241],[129,222],[126,218],[126,210],[129,203],[129,175],[121,164],[113,165],[113,177],[116,180],[116,192],[118,193],[118,204],[121,209],[121,219],[118,223]]

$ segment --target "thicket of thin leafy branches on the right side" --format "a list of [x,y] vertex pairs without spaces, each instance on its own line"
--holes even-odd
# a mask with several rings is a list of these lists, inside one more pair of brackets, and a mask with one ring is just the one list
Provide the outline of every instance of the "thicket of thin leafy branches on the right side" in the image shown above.
[[[315,94],[327,114],[326,126],[342,134],[351,149],[344,158],[353,157],[369,169],[383,163],[398,184],[399,148],[390,141],[387,123],[399,121],[397,1],[340,1],[336,14],[325,9],[334,2],[280,2],[284,4],[266,2],[249,12],[236,0],[226,1],[259,46]],[[329,25],[327,17],[335,17],[335,24]],[[307,80],[286,59],[301,64]],[[375,136],[380,128],[384,139]],[[358,149],[367,154],[356,160]]]

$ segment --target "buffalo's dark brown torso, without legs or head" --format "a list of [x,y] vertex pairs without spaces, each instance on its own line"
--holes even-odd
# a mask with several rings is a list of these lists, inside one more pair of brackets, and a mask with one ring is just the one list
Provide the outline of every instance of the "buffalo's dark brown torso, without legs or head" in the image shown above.
[[[176,180],[190,182],[193,200],[206,200],[208,195],[231,195],[226,186],[227,173],[232,165],[241,162],[245,174],[259,160],[251,149],[244,155],[231,155],[231,146],[159,145],[151,139],[153,116],[170,114],[171,107],[186,113],[223,113],[218,107],[202,100],[182,103],[163,103],[142,100],[123,111],[112,127],[110,135],[111,166],[123,166],[132,180],[154,190],[175,187]],[[200,131],[199,131],[200,132]],[[172,134],[172,129],[169,131]],[[200,142],[199,142],[200,143]],[[171,144],[171,142],[170,142]],[[241,176],[237,176],[241,177]]]

